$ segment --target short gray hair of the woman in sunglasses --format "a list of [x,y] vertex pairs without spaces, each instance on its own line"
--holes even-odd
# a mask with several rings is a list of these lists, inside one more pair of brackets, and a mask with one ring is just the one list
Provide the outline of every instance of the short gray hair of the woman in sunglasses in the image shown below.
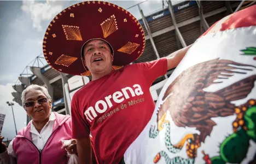
[[28,92],[30,92],[32,90],[42,91],[44,93],[44,95],[51,101],[51,96],[49,95],[49,92],[45,87],[39,86],[39,85],[36,85],[36,84],[32,84],[32,85],[26,87],[26,89],[24,91],[22,91],[22,93],[21,93],[21,102],[22,102],[22,104],[25,104],[26,95],[27,95]]

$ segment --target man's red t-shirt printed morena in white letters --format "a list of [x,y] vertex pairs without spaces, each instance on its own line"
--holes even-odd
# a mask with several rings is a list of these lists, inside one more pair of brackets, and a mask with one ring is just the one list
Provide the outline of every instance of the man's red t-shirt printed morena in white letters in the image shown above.
[[150,120],[155,104],[149,87],[167,72],[167,59],[136,63],[94,80],[71,103],[73,138],[90,132],[103,163],[119,163]]

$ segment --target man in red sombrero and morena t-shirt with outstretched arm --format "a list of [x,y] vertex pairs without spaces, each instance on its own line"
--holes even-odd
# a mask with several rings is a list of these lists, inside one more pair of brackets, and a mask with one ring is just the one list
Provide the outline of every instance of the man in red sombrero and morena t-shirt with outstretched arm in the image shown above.
[[91,132],[100,163],[119,163],[152,116],[149,87],[182,60],[184,48],[159,60],[129,65],[142,55],[144,31],[115,4],[88,1],[61,11],[48,26],[43,52],[56,71],[92,77],[72,99],[79,163],[91,163]]

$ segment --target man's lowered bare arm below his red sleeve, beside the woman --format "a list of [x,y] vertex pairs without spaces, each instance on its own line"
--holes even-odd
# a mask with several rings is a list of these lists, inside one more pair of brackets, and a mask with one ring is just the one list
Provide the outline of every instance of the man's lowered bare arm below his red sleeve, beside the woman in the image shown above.
[[77,139],[79,164],[92,164],[92,148],[90,137]]

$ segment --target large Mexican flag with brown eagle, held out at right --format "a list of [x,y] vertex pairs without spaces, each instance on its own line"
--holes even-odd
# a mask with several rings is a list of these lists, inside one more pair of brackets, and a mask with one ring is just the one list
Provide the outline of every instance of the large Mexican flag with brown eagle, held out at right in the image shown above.
[[216,22],[163,87],[125,163],[256,163],[256,5]]

